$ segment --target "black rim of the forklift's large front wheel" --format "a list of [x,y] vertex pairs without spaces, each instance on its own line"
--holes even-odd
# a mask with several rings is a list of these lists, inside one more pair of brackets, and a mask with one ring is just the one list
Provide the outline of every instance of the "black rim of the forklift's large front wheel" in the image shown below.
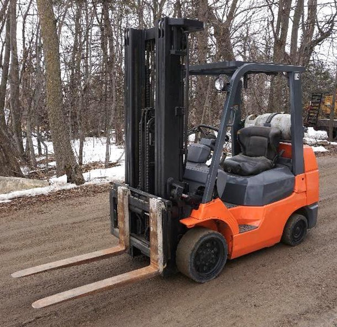
[[221,267],[223,256],[223,244],[218,238],[205,239],[195,251],[194,269],[200,276],[212,275]]

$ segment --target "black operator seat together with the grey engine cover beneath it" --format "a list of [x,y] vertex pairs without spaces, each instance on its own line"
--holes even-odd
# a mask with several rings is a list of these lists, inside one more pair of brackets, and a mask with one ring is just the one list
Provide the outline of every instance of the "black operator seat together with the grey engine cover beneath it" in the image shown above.
[[238,131],[242,153],[224,160],[218,169],[217,191],[227,203],[264,206],[288,197],[295,185],[291,169],[278,159],[281,131],[250,126]]

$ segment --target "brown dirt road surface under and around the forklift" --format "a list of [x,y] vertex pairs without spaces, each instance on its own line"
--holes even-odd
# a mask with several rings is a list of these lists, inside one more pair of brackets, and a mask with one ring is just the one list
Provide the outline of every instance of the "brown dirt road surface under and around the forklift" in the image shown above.
[[117,244],[108,192],[0,213],[1,326],[337,326],[337,157],[321,156],[316,228],[227,262],[196,284],[181,274],[33,309],[42,297],[146,265],[127,255],[13,279],[19,269]]

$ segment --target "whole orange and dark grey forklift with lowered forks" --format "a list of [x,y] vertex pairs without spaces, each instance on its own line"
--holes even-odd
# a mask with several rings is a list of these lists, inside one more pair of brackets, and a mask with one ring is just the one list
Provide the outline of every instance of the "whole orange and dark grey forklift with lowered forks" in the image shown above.
[[[111,233],[119,245],[12,276],[123,252],[145,255],[149,265],[48,296],[33,307],[177,271],[204,283],[221,273],[227,259],[280,241],[298,245],[315,226],[318,168],[312,148],[303,145],[304,67],[243,61],[190,66],[188,36],[202,29],[196,20],[163,17],[153,28],[125,31],[125,184],[110,192]],[[252,74],[287,78],[289,114],[244,126],[241,91]],[[216,89],[226,92],[219,127],[188,129],[190,76],[214,76]],[[224,152],[228,129],[231,156]],[[201,139],[189,144],[194,132]]]

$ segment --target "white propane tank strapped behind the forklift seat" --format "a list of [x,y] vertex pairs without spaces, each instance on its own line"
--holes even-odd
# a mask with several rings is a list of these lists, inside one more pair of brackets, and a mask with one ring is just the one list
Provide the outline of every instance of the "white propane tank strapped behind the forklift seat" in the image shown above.
[[[268,117],[272,114],[263,115],[249,115],[245,120],[245,127],[248,126],[264,126]],[[273,116],[270,121],[270,127],[275,127],[281,130],[282,140],[291,140],[292,135],[290,132],[290,114],[277,114]]]

